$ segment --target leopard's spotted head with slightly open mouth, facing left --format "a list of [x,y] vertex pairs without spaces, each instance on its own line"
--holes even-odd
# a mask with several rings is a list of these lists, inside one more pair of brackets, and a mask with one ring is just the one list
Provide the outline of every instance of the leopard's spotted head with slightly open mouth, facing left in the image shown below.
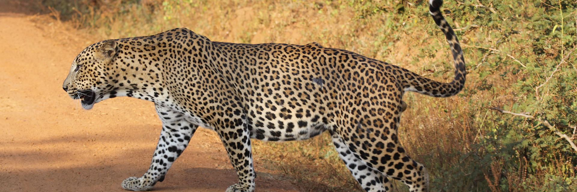
[[80,99],[85,110],[104,100],[114,90],[112,67],[117,57],[116,40],[105,40],[85,48],[72,62],[62,88],[72,99]]

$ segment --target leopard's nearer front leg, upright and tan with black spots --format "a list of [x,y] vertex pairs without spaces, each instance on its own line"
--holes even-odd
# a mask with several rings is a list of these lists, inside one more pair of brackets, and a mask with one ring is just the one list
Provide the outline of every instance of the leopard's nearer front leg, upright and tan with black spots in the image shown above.
[[250,134],[243,123],[239,123],[241,125],[235,123],[238,121],[241,120],[230,121],[227,125],[220,126],[221,129],[218,130],[220,139],[228,153],[228,159],[230,159],[238,175],[238,183],[228,187],[226,192],[253,192],[256,172],[254,172],[253,167]]

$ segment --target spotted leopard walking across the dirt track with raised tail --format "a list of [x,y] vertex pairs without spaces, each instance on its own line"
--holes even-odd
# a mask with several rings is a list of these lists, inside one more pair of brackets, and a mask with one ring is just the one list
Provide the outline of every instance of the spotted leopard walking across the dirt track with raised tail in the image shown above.
[[85,110],[119,96],[155,104],[162,121],[158,145],[148,171],[123,180],[125,190],[147,191],[162,182],[204,127],[218,134],[237,173],[238,183],[227,192],[255,190],[253,139],[298,141],[325,132],[362,190],[391,191],[399,180],[410,191],[428,191],[428,171],[407,155],[398,129],[404,93],[449,97],[463,89],[463,51],[442,4],[428,1],[451,48],[451,82],[319,43],[213,42],[175,28],[88,46],[62,88]]

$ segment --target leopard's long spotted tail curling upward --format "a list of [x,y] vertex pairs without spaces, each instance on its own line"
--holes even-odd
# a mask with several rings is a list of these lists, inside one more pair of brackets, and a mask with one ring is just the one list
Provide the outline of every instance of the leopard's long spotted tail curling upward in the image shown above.
[[403,88],[405,91],[418,92],[434,97],[448,97],[456,95],[463,89],[466,74],[463,50],[461,49],[455,32],[441,13],[441,5],[443,5],[442,0],[429,0],[429,13],[433,16],[433,20],[437,26],[445,33],[447,42],[449,42],[449,46],[451,46],[451,52],[455,61],[455,78],[449,83],[437,82],[419,76],[409,70],[403,70]]

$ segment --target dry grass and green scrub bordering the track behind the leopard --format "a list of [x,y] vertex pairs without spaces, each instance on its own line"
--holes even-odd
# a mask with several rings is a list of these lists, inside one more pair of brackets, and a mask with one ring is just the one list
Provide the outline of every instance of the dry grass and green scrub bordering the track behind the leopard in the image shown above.
[[[94,40],[186,27],[214,41],[318,42],[449,81],[445,39],[425,1],[44,1],[45,12]],[[405,95],[399,133],[432,175],[432,191],[577,191],[577,3],[445,1],[462,39],[467,85],[458,96]],[[565,58],[564,61],[562,59]],[[501,114],[499,107],[553,125]],[[555,131],[568,135],[558,137]],[[327,137],[256,142],[257,166],[306,191],[361,191]],[[405,191],[401,183],[396,190]]]

